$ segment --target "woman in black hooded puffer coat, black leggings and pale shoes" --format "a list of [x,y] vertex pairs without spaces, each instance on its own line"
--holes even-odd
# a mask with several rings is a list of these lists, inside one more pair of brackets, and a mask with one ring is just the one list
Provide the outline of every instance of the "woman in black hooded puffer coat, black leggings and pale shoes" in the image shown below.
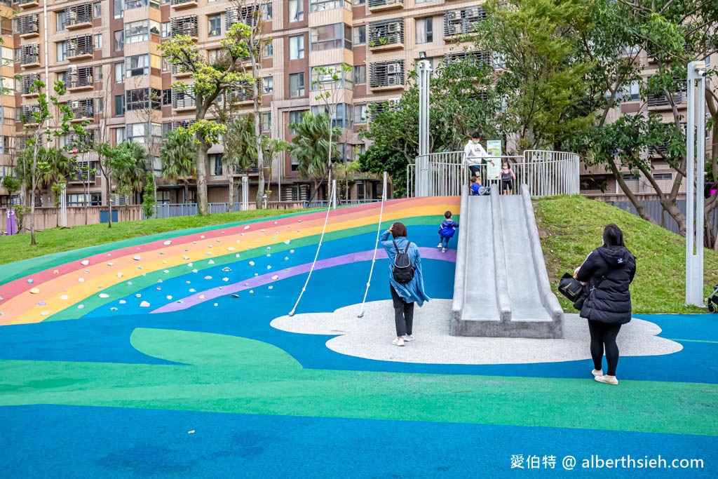
[[[588,285],[588,296],[581,317],[588,319],[591,333],[591,357],[596,381],[617,384],[618,346],[621,325],[630,321],[628,285],[635,275],[635,258],[623,244],[623,232],[614,224],[603,230],[603,246],[592,251],[574,276]],[[603,374],[604,347],[608,370]]]

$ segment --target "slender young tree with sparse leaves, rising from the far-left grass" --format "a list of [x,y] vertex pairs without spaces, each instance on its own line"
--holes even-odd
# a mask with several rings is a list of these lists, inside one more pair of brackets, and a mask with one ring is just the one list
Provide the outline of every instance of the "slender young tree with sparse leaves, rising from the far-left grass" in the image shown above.
[[[35,80],[32,91],[37,91],[38,104],[37,108],[29,113],[28,116],[22,117],[24,128],[29,132],[29,138],[26,141],[27,147],[24,154],[27,155],[29,163],[29,180],[31,182],[30,190],[30,245],[34,246],[35,241],[35,192],[39,186],[39,182],[43,175],[50,172],[50,157],[52,152],[42,148],[42,136],[46,139],[55,139],[59,136],[67,134],[73,129],[75,134],[82,137],[85,136],[84,127],[88,125],[88,121],[80,124],[70,124],[70,120],[74,118],[72,108],[65,103],[60,102],[57,98],[65,94],[65,83],[58,81],[55,83],[55,95],[43,93],[45,83],[41,80]],[[57,108],[58,116],[56,117],[51,106]],[[54,109],[54,108],[53,108]],[[54,124],[52,121],[54,120]]]

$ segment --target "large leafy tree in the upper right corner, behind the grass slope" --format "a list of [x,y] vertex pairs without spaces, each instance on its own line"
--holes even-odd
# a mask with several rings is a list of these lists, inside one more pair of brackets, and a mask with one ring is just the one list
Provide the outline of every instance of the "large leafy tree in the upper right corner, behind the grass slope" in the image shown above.
[[[595,126],[589,135],[577,140],[577,149],[587,153],[589,164],[602,164],[608,169],[642,218],[655,222],[648,209],[640,204],[630,186],[623,180],[623,172],[640,172],[658,195],[663,210],[686,233],[686,217],[676,202],[686,176],[685,132],[681,125],[683,113],[678,105],[686,85],[686,65],[718,51],[718,38],[709,34],[717,26],[718,5],[711,0],[595,0],[591,8],[595,29],[586,32],[581,54],[592,60],[589,73],[592,100],[598,112]],[[643,80],[641,55],[648,56],[657,66],[651,77]],[[715,67],[709,76],[718,78]],[[640,87],[640,111],[610,121],[621,101],[628,99],[628,85]],[[714,143],[709,148],[709,175],[715,180],[718,173],[718,90],[707,82],[707,110],[711,115],[709,128]],[[668,122],[653,111],[645,111],[648,100],[668,106]],[[696,135],[702,137],[701,133]],[[674,170],[671,187],[664,191],[653,175],[651,154],[658,156]],[[704,213],[716,208],[714,197],[705,203]],[[707,222],[706,222],[707,223]],[[709,230],[708,230],[709,231]],[[709,231],[709,234],[710,231]],[[714,247],[718,242],[713,240]]]

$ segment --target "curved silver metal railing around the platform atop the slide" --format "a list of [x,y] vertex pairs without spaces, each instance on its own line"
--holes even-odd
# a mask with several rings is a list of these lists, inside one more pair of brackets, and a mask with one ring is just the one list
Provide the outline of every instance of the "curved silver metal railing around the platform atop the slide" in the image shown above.
[[[463,152],[432,153],[428,157],[429,196],[459,196],[461,187],[469,183],[472,175],[464,164]],[[579,155],[568,152],[549,152],[544,150],[526,150],[521,156],[488,157],[495,166],[482,164],[480,169],[482,184],[500,185],[501,162],[508,161],[516,180],[514,192],[520,193],[522,185],[528,187],[531,196],[577,195],[579,193]],[[406,167],[407,196],[416,195],[416,164]],[[497,161],[498,160],[498,161]]]

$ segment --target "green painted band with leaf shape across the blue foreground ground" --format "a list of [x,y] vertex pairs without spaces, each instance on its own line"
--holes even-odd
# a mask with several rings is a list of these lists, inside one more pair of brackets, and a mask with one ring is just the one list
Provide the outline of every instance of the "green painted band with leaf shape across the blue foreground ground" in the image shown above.
[[2,361],[0,406],[62,404],[718,435],[718,385],[304,369],[256,340],[136,329],[182,365]]

